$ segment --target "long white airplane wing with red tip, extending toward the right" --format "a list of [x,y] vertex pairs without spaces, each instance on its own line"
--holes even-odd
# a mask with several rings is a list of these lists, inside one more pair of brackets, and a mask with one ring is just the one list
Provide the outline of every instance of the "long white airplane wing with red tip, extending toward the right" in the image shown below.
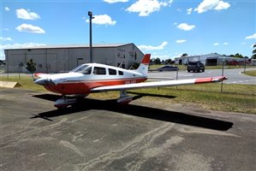
[[91,91],[117,91],[117,90],[139,89],[139,88],[159,87],[159,86],[193,85],[193,84],[221,82],[223,80],[227,80],[227,78],[222,76],[222,77],[209,77],[209,78],[188,79],[188,80],[166,80],[166,81],[154,81],[154,82],[146,82],[146,83],[134,83],[134,84],[128,84],[128,85],[100,86],[97,88],[93,88]]

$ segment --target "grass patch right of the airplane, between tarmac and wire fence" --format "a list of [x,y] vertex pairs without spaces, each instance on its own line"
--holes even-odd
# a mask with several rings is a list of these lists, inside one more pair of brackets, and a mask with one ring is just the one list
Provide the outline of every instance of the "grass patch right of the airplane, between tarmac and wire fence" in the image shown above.
[[[190,85],[188,85],[190,86]],[[195,85],[197,86],[197,85]],[[207,86],[207,85],[206,85]],[[232,86],[232,85],[230,85]],[[202,88],[202,86],[200,86]],[[180,86],[176,90],[176,87],[172,88],[160,88],[158,89],[141,89],[133,91],[138,94],[151,94],[146,97],[150,101],[163,101],[163,103],[193,103],[199,105],[205,109],[217,109],[222,111],[233,111],[242,113],[256,114],[256,90],[254,87],[244,85],[243,88],[247,91],[241,91],[241,93],[234,92],[237,87],[230,91],[224,91],[223,93],[217,92],[217,87],[213,87],[211,91],[206,91],[206,87],[203,90],[197,87],[195,90],[189,88],[181,88]],[[253,90],[251,92],[250,90]],[[233,92],[232,92],[233,91]],[[153,95],[161,95],[154,97]]]

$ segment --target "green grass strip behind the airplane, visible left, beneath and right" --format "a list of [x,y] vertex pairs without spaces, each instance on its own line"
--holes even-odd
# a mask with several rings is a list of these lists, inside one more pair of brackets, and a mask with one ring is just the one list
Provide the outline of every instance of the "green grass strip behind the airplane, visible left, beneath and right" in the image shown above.
[[[8,80],[1,75],[1,80]],[[33,91],[46,91],[41,85],[33,83],[31,75],[9,76],[9,81],[21,84],[22,89]],[[256,86],[255,85],[229,85],[223,84],[180,85],[172,87],[149,88],[128,91],[132,95],[142,95],[141,100],[171,105],[171,103],[193,103],[205,109],[217,109],[241,113],[256,114]],[[119,97],[118,91],[92,93],[89,97],[114,99]]]

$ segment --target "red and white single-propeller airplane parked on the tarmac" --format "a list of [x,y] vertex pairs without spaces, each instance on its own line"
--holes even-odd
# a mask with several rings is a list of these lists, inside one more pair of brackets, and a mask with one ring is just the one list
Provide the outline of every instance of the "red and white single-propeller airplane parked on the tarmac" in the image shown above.
[[[58,94],[54,106],[64,109],[77,102],[80,97],[86,97],[97,91],[120,91],[117,103],[126,104],[133,100],[126,92],[130,89],[147,87],[192,85],[202,83],[221,82],[227,80],[224,76],[198,78],[188,80],[162,80],[145,82],[150,62],[150,54],[146,54],[140,62],[139,68],[128,70],[99,63],[85,63],[63,74],[33,74],[34,83],[44,85],[45,89]],[[72,96],[72,98],[68,97]]]

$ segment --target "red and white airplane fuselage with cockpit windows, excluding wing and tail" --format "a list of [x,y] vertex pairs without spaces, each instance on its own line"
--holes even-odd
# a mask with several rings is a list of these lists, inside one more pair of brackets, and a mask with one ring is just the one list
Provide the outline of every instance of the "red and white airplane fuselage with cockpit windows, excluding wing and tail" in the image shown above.
[[146,81],[146,75],[123,68],[98,63],[86,63],[64,74],[35,74],[35,82],[49,91],[62,95],[85,95],[92,88],[106,85],[124,85]]

